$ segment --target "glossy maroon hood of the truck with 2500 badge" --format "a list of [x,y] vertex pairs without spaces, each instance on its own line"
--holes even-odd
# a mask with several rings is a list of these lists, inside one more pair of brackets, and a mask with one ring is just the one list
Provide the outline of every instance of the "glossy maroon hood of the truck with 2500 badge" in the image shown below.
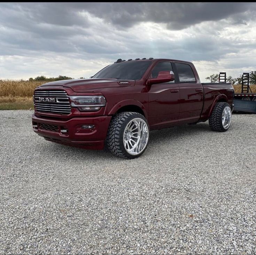
[[134,86],[134,80],[122,80],[115,78],[106,79],[76,79],[76,80],[62,80],[52,81],[42,84],[40,87],[62,86],[71,88],[75,92],[94,92],[107,88],[130,87]]

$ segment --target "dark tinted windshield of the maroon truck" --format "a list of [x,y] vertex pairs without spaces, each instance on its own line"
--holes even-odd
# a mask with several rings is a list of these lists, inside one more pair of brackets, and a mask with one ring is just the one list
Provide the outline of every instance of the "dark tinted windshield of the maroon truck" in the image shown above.
[[151,63],[151,61],[137,60],[111,64],[96,73],[92,78],[139,80]]

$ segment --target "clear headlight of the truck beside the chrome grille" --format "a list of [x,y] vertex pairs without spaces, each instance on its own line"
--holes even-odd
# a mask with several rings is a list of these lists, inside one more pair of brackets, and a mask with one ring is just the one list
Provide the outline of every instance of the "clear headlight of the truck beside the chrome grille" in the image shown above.
[[71,107],[78,107],[80,111],[98,111],[106,106],[104,96],[69,96]]

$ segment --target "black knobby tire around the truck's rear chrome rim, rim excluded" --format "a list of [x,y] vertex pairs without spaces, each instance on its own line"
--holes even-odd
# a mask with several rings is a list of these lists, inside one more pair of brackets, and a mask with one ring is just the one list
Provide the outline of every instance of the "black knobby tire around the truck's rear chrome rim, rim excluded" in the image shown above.
[[218,102],[214,106],[214,109],[209,118],[209,126],[211,130],[218,132],[226,132],[230,127],[229,126],[227,129],[225,129],[222,124],[222,113],[226,106],[230,107],[229,104],[225,102]]

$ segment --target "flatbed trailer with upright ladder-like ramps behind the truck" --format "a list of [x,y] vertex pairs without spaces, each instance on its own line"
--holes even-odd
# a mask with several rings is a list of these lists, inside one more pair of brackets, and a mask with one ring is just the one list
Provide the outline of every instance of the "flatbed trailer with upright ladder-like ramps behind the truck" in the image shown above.
[[[226,72],[219,73],[219,82],[227,82]],[[256,113],[256,93],[252,93],[249,85],[249,73],[242,74],[241,93],[234,94],[234,111]]]

